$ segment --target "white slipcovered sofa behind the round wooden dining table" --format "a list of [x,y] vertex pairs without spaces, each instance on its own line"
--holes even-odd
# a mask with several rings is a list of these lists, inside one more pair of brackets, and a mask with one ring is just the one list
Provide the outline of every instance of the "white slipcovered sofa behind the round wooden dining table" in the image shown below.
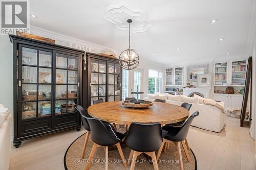
[[[154,97],[154,99],[151,98],[144,98],[146,101],[151,101],[154,102],[156,98],[160,99],[159,97]],[[188,98],[188,97],[186,97]],[[162,99],[162,98],[161,98]],[[165,100],[166,103],[174,104],[181,106],[182,103],[184,103],[182,100],[181,101],[171,101],[171,100]],[[202,128],[208,131],[214,131],[214,132],[221,132],[221,130],[224,128],[224,114],[222,111],[217,108],[216,106],[212,105],[205,105],[201,104],[199,102],[197,103],[191,103],[192,104],[190,110],[189,110],[189,115],[193,114],[196,111],[199,111],[199,116],[195,117],[193,122],[191,123],[191,126],[195,126],[198,128]]]

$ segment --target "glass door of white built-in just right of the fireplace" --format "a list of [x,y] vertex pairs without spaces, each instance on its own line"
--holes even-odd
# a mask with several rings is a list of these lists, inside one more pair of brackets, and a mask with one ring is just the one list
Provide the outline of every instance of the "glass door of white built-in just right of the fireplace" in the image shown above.
[[215,63],[215,85],[227,85],[227,62]]

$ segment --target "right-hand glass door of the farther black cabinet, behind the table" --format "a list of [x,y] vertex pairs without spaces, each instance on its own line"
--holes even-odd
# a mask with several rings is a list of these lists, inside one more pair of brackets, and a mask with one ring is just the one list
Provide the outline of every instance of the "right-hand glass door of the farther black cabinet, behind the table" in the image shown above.
[[120,101],[120,65],[119,63],[109,63],[108,64],[108,75],[109,75],[109,98],[108,101]]

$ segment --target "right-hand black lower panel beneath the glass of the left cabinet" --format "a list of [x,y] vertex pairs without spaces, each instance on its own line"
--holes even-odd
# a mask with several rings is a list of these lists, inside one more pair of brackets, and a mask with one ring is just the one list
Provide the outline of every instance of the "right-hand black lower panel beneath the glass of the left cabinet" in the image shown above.
[[63,126],[78,124],[77,123],[77,113],[57,116],[57,117],[55,117],[55,123],[56,123],[55,124],[56,128],[61,128]]

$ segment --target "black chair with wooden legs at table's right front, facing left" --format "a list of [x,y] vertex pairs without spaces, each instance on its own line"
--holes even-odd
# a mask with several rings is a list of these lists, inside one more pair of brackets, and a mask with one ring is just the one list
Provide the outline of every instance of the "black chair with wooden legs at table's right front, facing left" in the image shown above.
[[180,159],[180,169],[183,169],[183,161],[182,161],[182,155],[181,155],[181,144],[185,151],[187,160],[189,162],[191,161],[184,140],[187,138],[187,133],[188,133],[189,127],[190,127],[193,119],[198,115],[199,115],[199,112],[193,113],[181,127],[173,127],[173,126],[165,125],[162,128],[162,129],[166,130],[168,133],[164,136],[163,143],[161,144],[161,147],[158,150],[157,160],[159,160],[161,151],[163,149],[163,144],[166,142],[173,141],[176,144],[176,147],[178,150],[178,155],[179,155],[179,159]]

